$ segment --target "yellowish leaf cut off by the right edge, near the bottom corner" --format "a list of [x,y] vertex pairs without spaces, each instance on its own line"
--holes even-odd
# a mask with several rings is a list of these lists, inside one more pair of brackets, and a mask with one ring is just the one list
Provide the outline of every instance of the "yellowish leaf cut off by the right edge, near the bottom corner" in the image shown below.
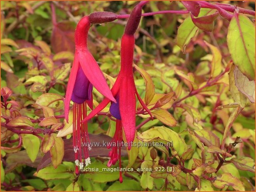
[[232,158],[230,161],[240,170],[255,173],[255,161],[250,157],[242,157],[240,159]]

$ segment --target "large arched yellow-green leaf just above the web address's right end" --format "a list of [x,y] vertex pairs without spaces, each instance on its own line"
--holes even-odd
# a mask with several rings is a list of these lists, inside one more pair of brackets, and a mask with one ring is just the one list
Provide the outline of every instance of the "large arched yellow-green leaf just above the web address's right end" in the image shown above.
[[179,156],[182,156],[182,154],[187,151],[187,144],[185,143],[184,139],[182,139],[178,133],[166,128],[165,126],[153,127],[146,130],[141,133],[138,138],[144,142],[157,141],[159,139],[166,142],[172,141],[173,148],[179,154]]

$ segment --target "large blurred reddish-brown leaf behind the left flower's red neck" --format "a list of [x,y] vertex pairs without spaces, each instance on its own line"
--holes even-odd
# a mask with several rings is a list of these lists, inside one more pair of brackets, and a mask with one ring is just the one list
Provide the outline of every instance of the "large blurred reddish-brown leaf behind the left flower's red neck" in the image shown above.
[[62,21],[53,25],[53,33],[51,37],[51,46],[53,52],[75,51],[74,44],[75,25],[70,21]]

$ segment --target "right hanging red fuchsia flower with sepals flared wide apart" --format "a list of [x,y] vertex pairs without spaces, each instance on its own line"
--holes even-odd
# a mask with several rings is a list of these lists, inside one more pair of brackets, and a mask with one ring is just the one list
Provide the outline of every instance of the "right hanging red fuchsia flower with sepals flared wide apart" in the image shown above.
[[[124,128],[124,134],[128,142],[128,149],[131,149],[131,142],[134,140],[136,131],[136,96],[142,107],[153,119],[151,112],[136,90],[132,67],[135,45],[134,33],[139,26],[142,7],[145,3],[140,2],[132,10],[121,40],[121,69],[111,89],[112,95],[117,100],[117,103],[112,103],[110,106],[110,113],[117,119],[115,135],[112,139],[112,142],[116,145],[112,145],[112,150],[109,153],[110,160],[108,166],[114,165],[118,159],[121,166],[120,142],[122,142],[122,127]],[[105,98],[82,122],[88,121],[98,114],[109,102],[111,102],[110,99]],[[108,146],[108,148],[110,147]],[[119,150],[117,150],[117,147],[119,147]],[[121,172],[120,182],[122,182]]]

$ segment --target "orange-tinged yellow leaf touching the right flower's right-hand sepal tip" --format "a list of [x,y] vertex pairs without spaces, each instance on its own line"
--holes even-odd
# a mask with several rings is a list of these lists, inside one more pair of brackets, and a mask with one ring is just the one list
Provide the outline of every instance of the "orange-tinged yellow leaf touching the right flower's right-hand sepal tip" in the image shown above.
[[174,127],[176,126],[176,120],[173,118],[173,116],[165,109],[156,109],[154,111],[151,111],[152,115],[156,117],[159,121],[164,123],[167,126]]

